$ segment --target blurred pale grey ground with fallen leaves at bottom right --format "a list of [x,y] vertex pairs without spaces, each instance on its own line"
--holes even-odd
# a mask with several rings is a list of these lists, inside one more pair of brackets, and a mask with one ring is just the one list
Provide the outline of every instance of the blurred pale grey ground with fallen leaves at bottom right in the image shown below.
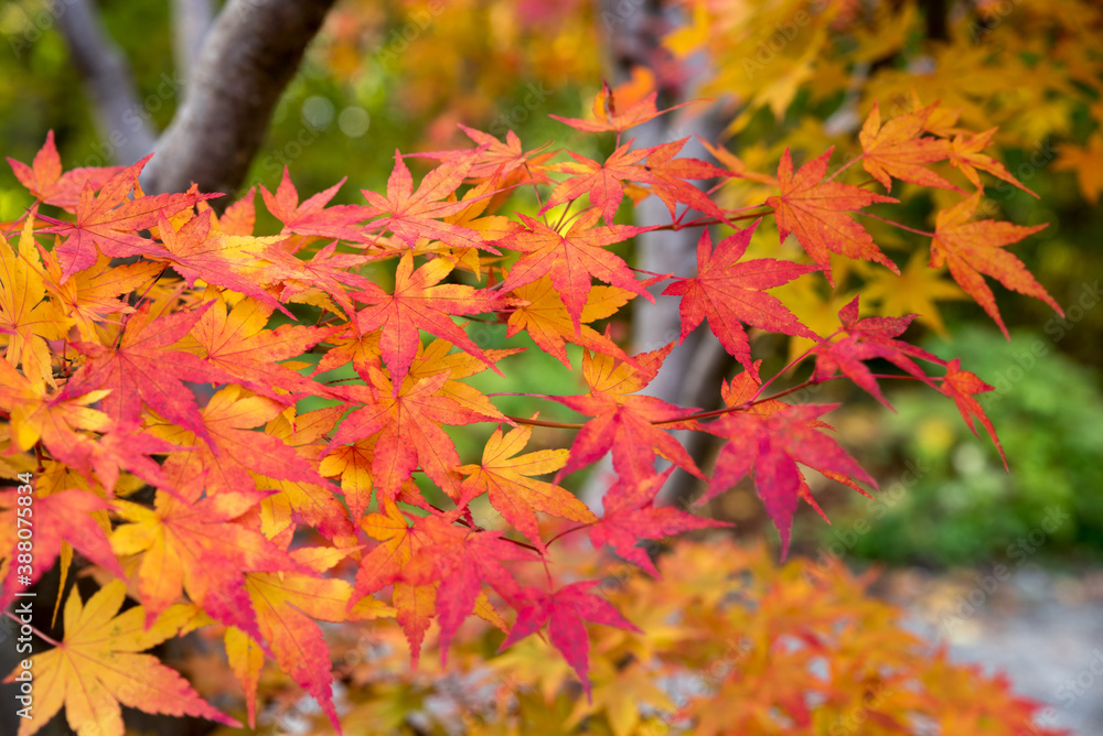
[[1003,671],[1048,704],[1040,723],[1103,734],[1103,569],[1052,572],[886,572],[874,591],[908,611],[908,627],[950,645],[957,662]]

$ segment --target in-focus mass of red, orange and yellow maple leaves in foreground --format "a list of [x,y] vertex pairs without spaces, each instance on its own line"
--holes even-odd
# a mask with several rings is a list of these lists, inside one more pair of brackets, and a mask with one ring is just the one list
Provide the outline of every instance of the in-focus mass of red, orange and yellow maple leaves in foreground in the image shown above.
[[[119,703],[236,723],[156,658],[136,653],[208,625],[224,627],[250,723],[270,658],[339,727],[330,653],[315,620],[395,617],[415,663],[433,619],[445,656],[472,615],[506,632],[503,647],[546,626],[588,691],[583,623],[634,627],[593,592],[596,580],[555,574],[556,537],[545,534],[537,513],[571,522],[558,535],[587,531],[595,546],[608,544],[655,573],[635,546],[640,539],[720,526],[655,506],[670,475],[656,469],[657,456],[706,480],[702,500],[751,476],[784,554],[800,499],[815,506],[799,464],[863,494],[857,481],[876,483],[826,432],[821,418],[835,404],[781,398],[842,377],[888,404],[871,359],[954,400],[970,426],[979,421],[998,446],[974,398],[989,387],[959,361],[898,339],[914,315],[863,318],[855,300],[839,311],[837,329],[821,335],[768,293],[817,271],[831,281],[833,255],[897,270],[856,218],[896,199],[836,181],[860,160],[886,191],[896,178],[961,192],[927,234],[931,264],[949,266],[1000,327],[984,275],[1060,311],[1004,249],[1038,228],[971,220],[982,194],[977,170],[1014,182],[982,153],[985,133],[956,129],[953,112],[936,105],[917,104],[884,125],[875,108],[859,159],[828,175],[831,150],[796,170],[786,150],[777,178],[756,175],[777,194],[732,210],[695,182],[745,176],[738,167],[678,156],[685,140],[647,149],[621,140],[660,115],[654,95],[619,110],[606,88],[593,113],[560,120],[586,133],[614,132],[604,161],[568,152],[572,161],[552,163],[554,152],[525,151],[512,132],[502,142],[464,128],[475,148],[418,154],[440,163],[416,188],[396,151],[386,193],[364,191],[366,205],[328,206],[343,182],[300,203],[285,172],[275,193],[261,187],[282,224],[275,236],[254,235],[251,193],[222,215],[207,204],[216,194],[144,194],[139,176],[148,159],[63,173],[51,134],[30,166],[11,161],[34,203],[0,241],[0,420],[8,429],[0,474],[34,473],[33,581],[58,556],[67,570],[74,550],[115,581],[88,602],[77,593],[66,600],[64,640],[34,658],[36,688],[47,694],[36,718],[22,724],[23,736],[63,705],[73,728],[92,721],[107,734],[122,733]],[[975,192],[927,167],[938,161],[960,169]],[[536,192],[537,212],[495,214],[521,186]],[[625,196],[649,195],[667,205],[670,225],[613,221]],[[45,207],[61,212],[46,215]],[[745,258],[771,214],[780,238],[794,236],[811,262]],[[737,225],[747,219],[749,227]],[[732,231],[714,243],[706,226]],[[696,275],[640,274],[609,249],[647,230],[686,227],[703,229]],[[364,275],[379,261],[397,262],[389,291]],[[449,279],[457,270],[485,285]],[[653,301],[649,290],[667,281],[660,296],[681,297],[678,339],[707,320],[742,366],[718,387],[724,409],[640,393],[675,343],[631,355],[590,326],[632,299]],[[277,311],[295,321],[295,303],[319,307],[318,323],[269,327]],[[533,426],[548,423],[507,416],[463,381],[486,369],[502,375],[500,364],[518,351],[480,347],[462,321],[480,314],[504,322],[511,337],[527,333],[568,368],[566,345],[583,348],[587,392],[545,397],[588,418],[570,425],[577,434],[569,448],[526,453]],[[812,340],[786,367],[807,359],[812,375],[769,393],[777,376],[760,376],[748,327]],[[303,360],[307,354],[320,357]],[[350,364],[357,380],[315,378]],[[189,383],[217,390],[203,403]],[[330,405],[299,412],[306,397]],[[481,422],[508,429],[493,433],[480,462],[464,464],[442,427]],[[711,475],[672,430],[724,441]],[[618,479],[599,518],[558,484],[609,453]],[[417,473],[447,496],[448,508],[426,498]],[[550,473],[552,481],[537,479]],[[152,505],[128,500],[150,486]],[[472,501],[483,494],[516,534],[479,523]],[[19,588],[15,493],[3,491],[0,506],[7,606]],[[328,543],[293,545],[306,528]],[[517,565],[542,562],[546,585],[517,582]],[[352,582],[332,572],[350,565]],[[141,605],[115,616],[127,591]]]

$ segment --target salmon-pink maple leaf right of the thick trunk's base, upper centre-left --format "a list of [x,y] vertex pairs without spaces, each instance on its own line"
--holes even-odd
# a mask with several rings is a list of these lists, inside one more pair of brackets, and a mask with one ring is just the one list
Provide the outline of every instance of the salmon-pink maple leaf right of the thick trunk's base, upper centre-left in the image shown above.
[[403,161],[403,154],[396,149],[395,169],[387,180],[387,196],[361,190],[370,205],[363,219],[382,215],[370,223],[367,229],[379,232],[390,230],[410,248],[417,245],[418,238],[429,238],[456,248],[480,248],[501,255],[476,230],[441,221],[441,218],[470,205],[462,201],[448,202],[447,197],[463,183],[481,151],[481,148],[475,149],[464,156],[446,161],[426,174],[415,192],[414,178]]

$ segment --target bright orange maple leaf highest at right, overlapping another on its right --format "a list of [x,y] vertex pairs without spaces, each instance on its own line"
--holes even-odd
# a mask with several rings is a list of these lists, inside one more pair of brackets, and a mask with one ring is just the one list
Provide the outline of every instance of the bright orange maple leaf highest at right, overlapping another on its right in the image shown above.
[[863,150],[861,165],[887,191],[892,191],[891,176],[920,186],[957,190],[921,165],[943,161],[951,153],[950,141],[921,137],[923,126],[935,105],[899,115],[881,126],[881,111],[877,102],[874,102],[874,109],[858,133]]

